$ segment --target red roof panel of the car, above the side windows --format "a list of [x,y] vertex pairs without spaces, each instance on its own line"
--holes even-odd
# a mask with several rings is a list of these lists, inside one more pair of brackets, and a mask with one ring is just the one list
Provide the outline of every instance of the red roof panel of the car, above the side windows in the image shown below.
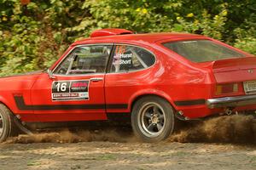
[[[93,43],[93,42],[148,42],[154,43],[168,39],[168,41],[175,41],[177,39],[193,39],[202,38],[201,35],[189,34],[189,33],[148,33],[148,34],[125,34],[116,36],[105,36],[105,37],[89,37],[82,40],[76,41],[73,45]],[[207,37],[206,37],[207,38]]]

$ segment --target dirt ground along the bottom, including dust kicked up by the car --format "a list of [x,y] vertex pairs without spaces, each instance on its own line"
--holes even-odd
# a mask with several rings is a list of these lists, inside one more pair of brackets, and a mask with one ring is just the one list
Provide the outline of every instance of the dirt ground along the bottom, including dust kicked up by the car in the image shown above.
[[223,116],[146,144],[105,129],[20,135],[0,144],[0,169],[256,169],[253,116]]

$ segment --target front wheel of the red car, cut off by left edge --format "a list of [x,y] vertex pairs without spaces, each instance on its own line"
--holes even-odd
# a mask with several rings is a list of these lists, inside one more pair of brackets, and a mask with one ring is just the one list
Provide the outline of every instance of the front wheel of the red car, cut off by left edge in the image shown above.
[[16,127],[14,116],[9,109],[0,104],[0,143],[15,135]]

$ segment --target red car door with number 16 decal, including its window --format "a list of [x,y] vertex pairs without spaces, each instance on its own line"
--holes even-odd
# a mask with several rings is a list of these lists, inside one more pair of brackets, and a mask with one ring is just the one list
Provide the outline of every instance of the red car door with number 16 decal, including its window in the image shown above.
[[38,122],[106,120],[104,81],[112,44],[80,45],[70,50],[32,87]]

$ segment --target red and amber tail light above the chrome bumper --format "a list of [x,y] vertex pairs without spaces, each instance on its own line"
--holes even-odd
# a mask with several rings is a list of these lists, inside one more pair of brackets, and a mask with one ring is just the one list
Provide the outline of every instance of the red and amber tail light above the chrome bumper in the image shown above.
[[216,95],[220,94],[232,94],[238,92],[238,83],[230,83],[230,84],[218,84],[216,86]]

